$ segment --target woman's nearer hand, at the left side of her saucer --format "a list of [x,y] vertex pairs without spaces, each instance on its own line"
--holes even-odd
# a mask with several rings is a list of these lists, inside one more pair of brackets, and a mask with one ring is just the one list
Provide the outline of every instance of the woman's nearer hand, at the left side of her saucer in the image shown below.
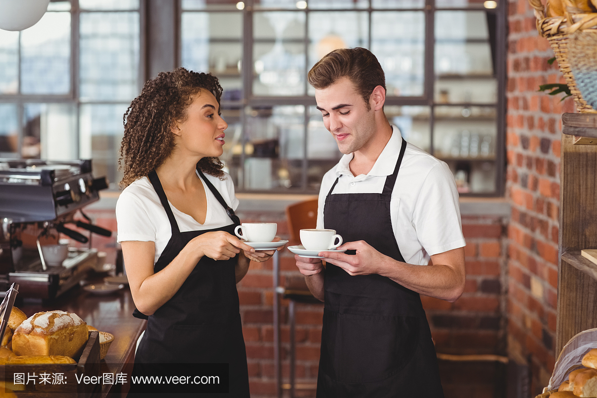
[[254,248],[224,231],[203,233],[193,238],[187,246],[192,246],[199,257],[205,255],[214,260],[230,260],[241,250],[250,254],[255,252]]

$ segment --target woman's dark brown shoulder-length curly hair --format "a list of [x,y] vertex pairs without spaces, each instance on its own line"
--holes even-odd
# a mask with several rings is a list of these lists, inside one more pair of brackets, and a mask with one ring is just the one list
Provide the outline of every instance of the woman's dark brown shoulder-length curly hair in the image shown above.
[[[146,82],[122,118],[124,138],[118,159],[118,168],[124,172],[119,184],[122,189],[148,175],[170,156],[174,149],[173,122],[186,119],[193,96],[202,89],[214,94],[220,104],[222,88],[211,74],[179,67]],[[203,158],[197,165],[207,174],[224,175],[219,158]]]

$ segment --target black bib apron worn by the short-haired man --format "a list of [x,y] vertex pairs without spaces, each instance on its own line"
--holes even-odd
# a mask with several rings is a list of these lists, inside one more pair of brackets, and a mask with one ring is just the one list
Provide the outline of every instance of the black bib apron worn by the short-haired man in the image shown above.
[[[402,262],[390,198],[406,144],[402,140],[396,168],[386,177],[382,193],[332,195],[336,178],[324,210],[325,228],[336,230],[344,242],[364,240]],[[350,276],[331,263],[324,288],[318,398],[444,397],[418,293],[378,274]]]

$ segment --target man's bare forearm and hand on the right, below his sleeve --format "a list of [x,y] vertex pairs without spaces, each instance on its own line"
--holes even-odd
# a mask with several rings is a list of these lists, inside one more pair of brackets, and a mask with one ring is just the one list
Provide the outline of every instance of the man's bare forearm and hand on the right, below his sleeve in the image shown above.
[[348,242],[342,249],[356,250],[355,255],[321,252],[325,261],[344,269],[350,275],[380,274],[417,293],[447,300],[458,300],[464,291],[464,248],[431,256],[432,265],[415,266],[381,254],[367,242]]

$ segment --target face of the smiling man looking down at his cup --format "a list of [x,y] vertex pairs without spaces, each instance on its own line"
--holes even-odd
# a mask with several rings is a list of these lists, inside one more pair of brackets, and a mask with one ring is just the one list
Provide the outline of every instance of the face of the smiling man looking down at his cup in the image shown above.
[[340,152],[346,155],[358,151],[373,137],[374,111],[367,110],[365,101],[348,78],[315,90],[315,100],[325,128],[334,136]]

